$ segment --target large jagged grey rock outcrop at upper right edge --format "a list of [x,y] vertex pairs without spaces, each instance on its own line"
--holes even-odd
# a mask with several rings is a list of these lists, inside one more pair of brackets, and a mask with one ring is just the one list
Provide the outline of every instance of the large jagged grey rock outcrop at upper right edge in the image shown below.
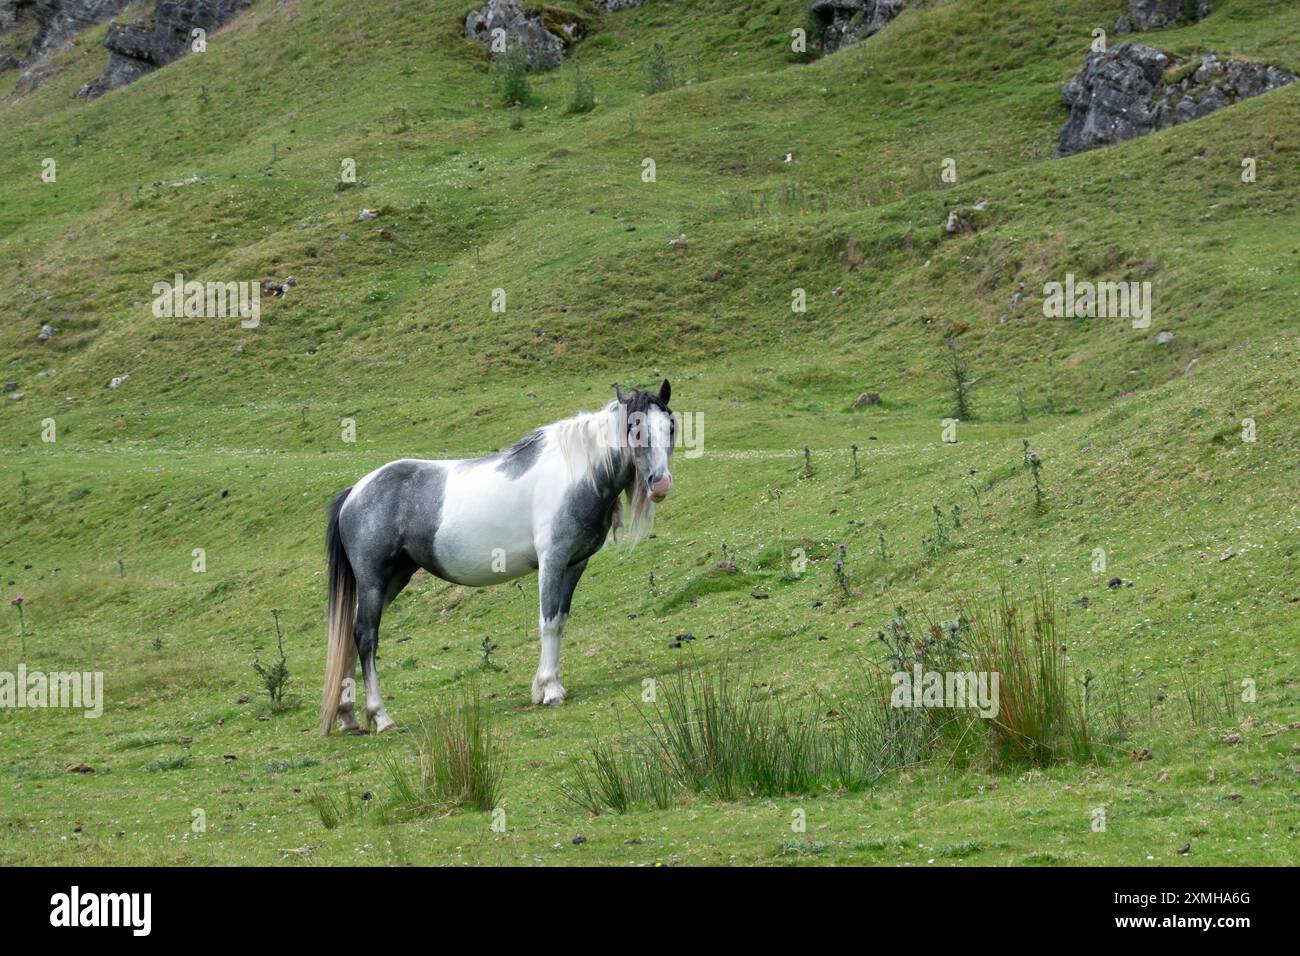
[[1274,66],[1206,53],[1195,72],[1166,85],[1165,70],[1175,65],[1144,43],[1088,53],[1083,70],[1062,90],[1070,118],[1061,127],[1057,156],[1144,137],[1295,81]]

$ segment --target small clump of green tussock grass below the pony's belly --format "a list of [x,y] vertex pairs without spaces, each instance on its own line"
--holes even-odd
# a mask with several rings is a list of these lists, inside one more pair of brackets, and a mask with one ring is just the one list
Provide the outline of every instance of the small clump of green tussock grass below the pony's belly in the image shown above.
[[421,723],[415,773],[391,750],[385,756],[390,806],[396,817],[458,806],[493,810],[500,805],[506,766],[506,745],[488,708],[477,692],[465,692]]

